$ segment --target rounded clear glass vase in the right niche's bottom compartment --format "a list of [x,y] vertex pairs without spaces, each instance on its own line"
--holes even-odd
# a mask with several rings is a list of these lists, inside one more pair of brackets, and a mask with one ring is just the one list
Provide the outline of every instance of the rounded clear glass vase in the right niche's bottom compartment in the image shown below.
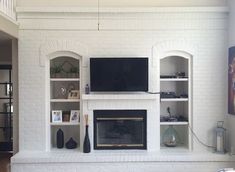
[[180,142],[179,135],[172,125],[166,129],[162,139],[163,144],[167,147],[176,147]]

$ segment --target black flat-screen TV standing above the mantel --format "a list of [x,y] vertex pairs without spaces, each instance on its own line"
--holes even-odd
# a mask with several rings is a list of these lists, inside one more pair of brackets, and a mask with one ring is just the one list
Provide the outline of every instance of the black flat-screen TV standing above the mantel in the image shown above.
[[148,58],[90,58],[91,91],[148,91]]

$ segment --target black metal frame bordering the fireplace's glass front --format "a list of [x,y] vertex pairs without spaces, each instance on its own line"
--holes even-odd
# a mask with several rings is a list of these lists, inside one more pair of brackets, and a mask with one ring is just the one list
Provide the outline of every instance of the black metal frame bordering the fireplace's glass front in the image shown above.
[[[95,150],[116,150],[116,149],[141,149],[146,150],[147,149],[147,110],[94,110],[94,149]],[[96,135],[96,128],[97,128],[97,117],[103,117],[103,118],[110,118],[110,114],[112,114],[111,117],[115,118],[127,118],[127,117],[143,117],[143,124],[144,124],[144,142],[143,146],[97,146],[97,135]],[[128,116],[126,115],[128,114]]]

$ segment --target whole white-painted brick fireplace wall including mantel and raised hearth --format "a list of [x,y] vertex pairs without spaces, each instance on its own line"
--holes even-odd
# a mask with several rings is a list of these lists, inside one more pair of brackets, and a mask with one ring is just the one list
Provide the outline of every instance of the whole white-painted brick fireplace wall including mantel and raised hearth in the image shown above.
[[[45,103],[51,53],[82,58],[83,93],[90,57],[148,57],[149,91],[158,92],[158,58],[185,51],[193,56],[193,129],[213,145],[213,129],[226,111],[226,87],[219,83],[226,83],[227,13],[218,7],[103,9],[98,31],[96,9],[18,8],[20,150],[12,158],[12,172],[214,172],[234,167],[233,156],[215,154],[195,139],[192,151],[160,150],[159,95],[83,94],[82,114],[89,115],[92,143],[88,154],[48,149]],[[93,110],[99,109],[147,110],[147,150],[93,150]]]

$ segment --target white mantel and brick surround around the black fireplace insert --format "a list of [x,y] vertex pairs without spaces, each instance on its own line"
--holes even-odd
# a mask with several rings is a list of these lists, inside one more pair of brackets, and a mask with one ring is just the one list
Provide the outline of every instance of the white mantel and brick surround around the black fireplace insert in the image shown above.
[[[94,110],[147,110],[147,151],[159,150],[158,95],[139,94],[90,94],[83,95],[83,112],[89,114],[91,149],[93,150],[93,111]],[[84,128],[84,127],[82,127]],[[82,144],[82,143],[81,143]],[[128,151],[127,151],[128,152]]]

